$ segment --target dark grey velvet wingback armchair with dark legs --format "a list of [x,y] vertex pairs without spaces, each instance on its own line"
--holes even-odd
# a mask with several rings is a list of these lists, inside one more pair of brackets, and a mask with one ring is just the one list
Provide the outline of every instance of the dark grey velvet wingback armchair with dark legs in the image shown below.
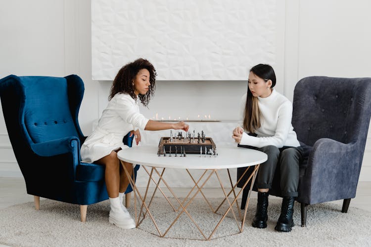
[[[348,211],[356,196],[370,116],[371,78],[307,77],[296,84],[292,125],[305,156],[296,199],[302,226],[308,205],[344,200],[342,212]],[[241,175],[237,170],[237,179]],[[271,195],[281,196],[279,176],[277,169]],[[246,197],[244,191],[242,205]]]

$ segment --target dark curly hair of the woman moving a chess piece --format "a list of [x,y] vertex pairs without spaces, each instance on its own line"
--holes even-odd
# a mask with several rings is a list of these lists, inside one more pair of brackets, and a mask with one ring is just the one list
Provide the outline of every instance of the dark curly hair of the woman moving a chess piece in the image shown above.
[[139,58],[134,62],[128,63],[119,70],[115,80],[113,80],[108,100],[111,100],[117,93],[129,94],[133,99],[137,100],[137,96],[134,93],[135,87],[133,85],[133,80],[135,80],[135,77],[141,69],[146,69],[149,71],[150,85],[148,91],[146,94],[138,95],[143,106],[147,106],[151,96],[154,94],[157,74],[153,65],[148,60],[143,58]]

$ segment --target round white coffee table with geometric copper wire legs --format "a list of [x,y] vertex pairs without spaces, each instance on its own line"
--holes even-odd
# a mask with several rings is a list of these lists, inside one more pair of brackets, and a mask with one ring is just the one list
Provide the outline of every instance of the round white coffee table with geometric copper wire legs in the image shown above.
[[[157,146],[137,146],[137,147],[132,147],[132,148],[129,148],[129,149],[121,150],[117,153],[118,158],[122,161],[125,161],[125,162],[128,162],[128,163],[133,163],[134,165],[135,164],[142,165],[143,169],[149,175],[147,188],[146,188],[144,196],[142,196],[139,193],[139,190],[135,185],[135,182],[134,182],[135,180],[129,175],[128,170],[125,168],[125,165],[123,166],[127,176],[129,177],[130,184],[131,184],[131,186],[133,188],[133,191],[135,193],[135,200],[138,197],[139,202],[141,203],[140,212],[139,212],[138,217],[137,217],[137,209],[135,209],[137,227],[144,220],[146,214],[148,213],[149,216],[151,217],[151,220],[153,221],[157,231],[158,231],[159,236],[164,237],[167,234],[167,232],[170,230],[170,228],[174,225],[174,223],[178,220],[178,218],[181,216],[181,214],[183,212],[185,212],[188,215],[188,217],[193,221],[193,223],[195,224],[197,229],[200,231],[200,233],[204,237],[204,239],[205,240],[210,240],[212,235],[214,234],[214,232],[216,231],[216,229],[218,228],[220,223],[223,221],[223,219],[226,217],[226,215],[229,211],[232,212],[233,217],[234,217],[235,221],[237,222],[237,217],[236,217],[236,215],[235,215],[235,213],[233,212],[233,209],[232,209],[232,206],[235,204],[238,208],[239,218],[240,218],[240,221],[241,221],[241,226],[238,225],[238,222],[237,222],[237,226],[238,226],[239,232],[243,231],[252,186],[250,186],[250,191],[249,191],[249,194],[248,194],[248,199],[247,199],[247,202],[246,202],[245,211],[244,211],[243,216],[241,215],[239,206],[237,204],[237,199],[238,199],[238,197],[242,193],[242,190],[246,187],[246,185],[248,184],[249,181],[252,181],[251,185],[254,184],[255,177],[256,177],[256,174],[257,174],[258,169],[259,169],[259,165],[261,163],[264,163],[267,160],[267,155],[265,153],[257,151],[257,150],[246,149],[246,148],[218,147],[218,156],[216,156],[216,157],[211,156],[211,155],[206,155],[206,157],[205,157],[205,154],[202,154],[202,155],[200,155],[200,154],[186,154],[186,157],[183,157],[183,156],[181,157],[180,154],[177,154],[177,157],[175,157],[175,154],[172,154],[171,157],[169,157],[169,154],[167,154],[167,156],[164,157],[163,155],[158,156],[157,151],[158,151]],[[252,169],[253,171],[252,171],[251,175],[249,176],[249,178],[247,179],[247,181],[242,186],[241,190],[237,194],[236,194],[235,188],[236,188],[237,183],[239,182],[239,180],[236,183],[233,184],[232,180],[231,180],[231,176],[229,175],[231,185],[233,185],[233,186],[232,186],[232,189],[227,193],[224,185],[222,184],[222,182],[220,180],[220,175],[219,175],[218,171],[220,169],[227,169],[228,174],[230,174],[229,169],[237,168],[237,167],[246,167],[245,172],[247,172],[248,169],[250,169],[250,171]],[[160,172],[158,168],[162,168],[162,171]],[[190,190],[190,192],[188,193],[188,195],[186,196],[186,198],[183,201],[180,201],[178,199],[178,197],[175,195],[175,193],[173,192],[171,187],[168,185],[168,183],[163,178],[163,174],[164,174],[164,171],[165,171],[166,168],[185,169],[188,172],[192,181],[194,182],[195,185],[193,186],[193,188]],[[192,177],[191,173],[189,172],[190,169],[202,169],[202,170],[205,170],[205,171],[200,176],[200,178],[196,181]],[[207,173],[209,173],[209,174],[206,175]],[[158,181],[155,181],[153,179],[153,176],[152,176],[153,174],[157,174],[157,176],[159,177]],[[217,176],[217,178],[219,180],[219,183],[220,183],[220,186],[221,186],[221,189],[223,190],[223,193],[225,195],[225,199],[218,206],[218,208],[216,208],[215,210],[210,205],[210,203],[208,202],[204,193],[202,193],[203,186],[205,185],[207,180],[213,174],[215,174]],[[243,175],[241,176],[241,178],[243,177]],[[206,178],[204,178],[204,177],[206,177]],[[153,181],[155,183],[156,188],[154,190],[154,193],[151,197],[150,202],[147,204],[146,203],[146,198],[147,198],[147,194],[148,194],[148,188],[149,188],[149,185],[150,185],[150,181]],[[153,200],[153,197],[154,197],[157,189],[159,189],[161,191],[164,198],[168,201],[168,203],[173,207],[173,209],[175,211],[177,211],[178,209],[176,209],[176,207],[173,206],[170,203],[170,201],[166,197],[165,193],[159,187],[159,184],[160,184],[161,181],[169,189],[171,194],[174,196],[174,198],[179,203],[180,207],[178,207],[178,209],[182,209],[182,210],[180,210],[178,216],[174,219],[173,223],[168,227],[168,229],[164,233],[161,233],[161,231],[157,227],[155,219],[153,218],[153,216],[150,212],[150,205],[151,205],[151,202]],[[190,198],[190,201],[188,201],[185,204],[185,201],[190,196],[191,192],[195,189],[196,189],[196,192]],[[189,212],[186,209],[186,207],[190,204],[190,202],[195,198],[195,196],[198,193],[202,194],[202,196],[204,197],[204,199],[206,200],[206,202],[210,206],[211,210],[215,213],[219,210],[219,208],[225,202],[227,202],[228,203],[227,206],[229,206],[228,209],[226,210],[226,212],[223,214],[220,221],[218,222],[218,224],[216,225],[216,227],[214,228],[214,230],[212,231],[212,233],[210,234],[210,236],[205,236],[203,231],[196,224],[196,222],[193,220],[192,216],[189,214]],[[231,198],[229,198],[229,196],[231,194],[233,196],[232,201],[230,201]]]

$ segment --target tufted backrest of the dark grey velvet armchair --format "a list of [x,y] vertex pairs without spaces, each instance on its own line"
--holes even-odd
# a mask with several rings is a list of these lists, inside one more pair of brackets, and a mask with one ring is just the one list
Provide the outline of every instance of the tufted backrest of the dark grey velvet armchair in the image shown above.
[[307,77],[295,86],[292,125],[309,146],[320,138],[358,142],[363,154],[370,116],[371,78]]

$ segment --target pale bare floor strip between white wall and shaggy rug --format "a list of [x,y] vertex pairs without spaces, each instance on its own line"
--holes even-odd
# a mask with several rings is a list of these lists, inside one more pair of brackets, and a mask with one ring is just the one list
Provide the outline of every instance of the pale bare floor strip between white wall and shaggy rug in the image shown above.
[[[144,193],[144,188],[140,189]],[[166,195],[170,195],[169,192],[166,192],[165,190],[164,192]],[[174,192],[179,197],[185,197],[189,192],[189,189],[175,188]],[[223,192],[217,188],[205,188],[203,189],[203,192],[210,198],[223,196]],[[256,192],[253,192],[251,197],[256,197]],[[0,209],[16,204],[32,202],[33,200],[33,196],[28,195],[26,192],[26,185],[23,178],[0,177]],[[43,199],[41,198],[41,200]],[[333,203],[342,205],[343,201],[334,201]],[[350,207],[358,207],[371,211],[371,181],[358,183],[356,198],[351,200]],[[0,244],[0,247],[4,246]]]

